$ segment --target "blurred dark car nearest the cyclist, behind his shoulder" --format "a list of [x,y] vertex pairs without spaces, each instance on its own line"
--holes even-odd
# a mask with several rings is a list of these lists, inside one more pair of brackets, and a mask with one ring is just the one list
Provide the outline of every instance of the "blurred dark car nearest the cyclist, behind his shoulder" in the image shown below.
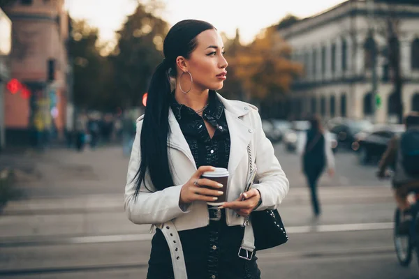
[[355,135],[353,150],[358,151],[361,164],[378,163],[387,149],[388,142],[397,134],[404,132],[403,125],[378,125],[370,132]]

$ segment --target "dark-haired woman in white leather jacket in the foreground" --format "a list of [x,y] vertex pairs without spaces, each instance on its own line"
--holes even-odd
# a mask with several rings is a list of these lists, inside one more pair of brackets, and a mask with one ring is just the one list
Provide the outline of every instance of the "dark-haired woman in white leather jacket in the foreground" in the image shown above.
[[[164,40],[163,54],[145,115],[137,121],[125,188],[129,220],[156,227],[147,278],[260,278],[256,256],[237,255],[254,241],[244,239],[251,226],[241,225],[253,210],[276,208],[288,193],[288,180],[256,107],[216,93],[228,66],[216,29],[198,20],[178,22]],[[175,79],[172,92],[168,73]],[[247,146],[258,183],[242,193]],[[219,207],[206,203],[221,195],[218,183],[200,179],[213,167],[230,173],[228,202]]]

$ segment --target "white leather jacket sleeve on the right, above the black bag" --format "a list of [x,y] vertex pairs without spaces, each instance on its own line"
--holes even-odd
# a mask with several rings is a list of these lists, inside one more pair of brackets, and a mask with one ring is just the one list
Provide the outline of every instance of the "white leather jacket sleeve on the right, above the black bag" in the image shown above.
[[262,121],[258,112],[256,114],[256,181],[253,188],[260,192],[262,204],[256,211],[277,209],[289,190],[289,182],[274,153],[274,147],[267,139],[262,129]]

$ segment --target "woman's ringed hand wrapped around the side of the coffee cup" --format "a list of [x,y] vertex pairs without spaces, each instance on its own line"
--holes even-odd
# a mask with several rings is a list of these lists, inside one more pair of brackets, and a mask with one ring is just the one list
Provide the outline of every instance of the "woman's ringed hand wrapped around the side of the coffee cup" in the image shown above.
[[200,176],[204,172],[214,171],[212,166],[201,166],[196,172],[191,176],[188,182],[182,186],[180,190],[179,204],[190,204],[193,201],[200,200],[205,202],[215,202],[218,199],[218,196],[223,195],[223,192],[220,190],[211,190],[203,188],[203,186],[212,187],[214,189],[223,188],[223,185],[210,180],[210,179],[200,179]]

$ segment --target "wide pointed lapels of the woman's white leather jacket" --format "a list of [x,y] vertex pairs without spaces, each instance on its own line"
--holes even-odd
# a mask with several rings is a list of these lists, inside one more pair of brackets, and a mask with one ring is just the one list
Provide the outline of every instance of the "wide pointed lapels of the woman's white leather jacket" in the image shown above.
[[[216,93],[221,103],[224,105],[224,112],[226,114],[226,121],[228,124],[228,130],[230,131],[230,158],[228,160],[228,172],[232,175],[240,163],[240,160],[244,155],[247,156],[247,145],[251,141],[251,137],[255,131],[253,128],[244,123],[242,116],[249,114],[252,110],[250,105],[243,103],[238,100],[227,100],[223,98],[219,93]],[[182,151],[184,155],[191,160],[193,165],[196,167],[195,160],[191,150],[189,149],[188,142],[182,130],[180,129],[179,123],[176,120],[175,114],[172,108],[169,109],[169,125],[170,125],[170,137],[168,138],[168,146]]]

